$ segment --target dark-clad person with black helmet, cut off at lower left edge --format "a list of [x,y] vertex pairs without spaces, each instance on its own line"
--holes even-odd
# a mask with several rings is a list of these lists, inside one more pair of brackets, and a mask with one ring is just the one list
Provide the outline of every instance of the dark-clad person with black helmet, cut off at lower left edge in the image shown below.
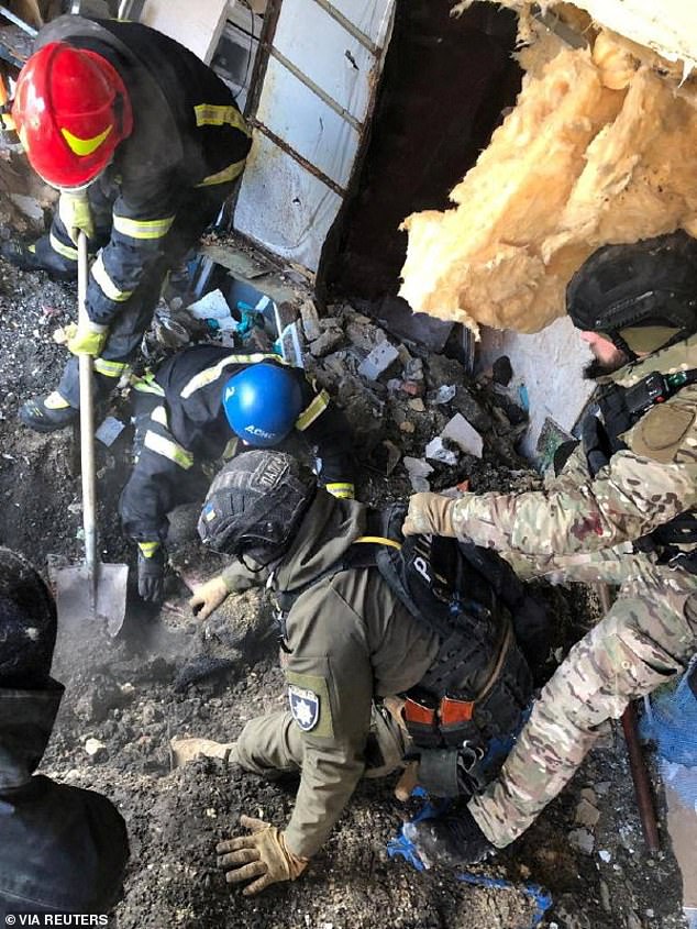
[[[0,917],[106,914],[129,859],[125,823],[93,790],[34,774],[63,686],[49,676],[56,606],[16,552],[0,549]],[[19,920],[18,920],[19,925]]]

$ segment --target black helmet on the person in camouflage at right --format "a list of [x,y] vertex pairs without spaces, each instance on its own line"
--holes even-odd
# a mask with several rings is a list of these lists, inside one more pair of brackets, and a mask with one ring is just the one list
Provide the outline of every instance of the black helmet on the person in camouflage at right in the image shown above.
[[566,311],[632,360],[686,339],[697,331],[697,240],[678,230],[598,248],[571,279]]

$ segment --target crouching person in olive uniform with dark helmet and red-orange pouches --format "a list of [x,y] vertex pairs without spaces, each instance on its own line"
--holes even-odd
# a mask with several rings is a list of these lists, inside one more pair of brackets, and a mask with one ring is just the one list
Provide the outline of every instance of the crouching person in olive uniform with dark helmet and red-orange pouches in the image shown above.
[[[451,543],[443,548],[460,584],[436,599],[421,578],[444,571],[445,558],[431,563],[425,539],[402,551],[395,527],[403,512],[332,497],[281,452],[245,452],[211,485],[199,533],[235,561],[190,604],[206,618],[256,572],[279,608],[288,682],[289,709],[248,722],[229,760],[259,775],[300,773],[285,829],[243,816],[251,834],[218,847],[228,882],[251,882],[247,895],[305,871],[362,776],[387,775],[410,760],[401,799],[416,781],[440,796],[469,796],[519,727],[532,682],[504,595],[532,620],[535,637],[544,632],[539,611],[496,555],[483,573],[480,551],[471,562]],[[511,589],[504,578],[515,582]],[[398,588],[409,596],[398,598]]]

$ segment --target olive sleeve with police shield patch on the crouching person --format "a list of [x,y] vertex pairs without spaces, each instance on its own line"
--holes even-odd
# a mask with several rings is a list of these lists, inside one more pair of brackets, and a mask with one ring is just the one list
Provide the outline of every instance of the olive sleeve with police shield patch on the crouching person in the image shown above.
[[[317,587],[287,622],[288,697],[303,757],[286,840],[305,858],[322,845],[365,771],[373,701],[363,623],[333,584]],[[296,610],[302,616],[294,617]]]

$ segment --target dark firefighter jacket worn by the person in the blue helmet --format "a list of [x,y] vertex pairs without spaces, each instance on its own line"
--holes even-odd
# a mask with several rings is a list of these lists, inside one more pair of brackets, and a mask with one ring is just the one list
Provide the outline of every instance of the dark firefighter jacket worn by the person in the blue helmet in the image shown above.
[[[226,381],[251,364],[275,362],[275,354],[245,353],[219,345],[195,345],[173,355],[155,375],[162,405],[152,414],[144,447],[121,495],[123,529],[139,542],[163,541],[167,513],[189,501],[187,476],[195,465],[224,456],[234,439],[223,408]],[[302,391],[303,408],[296,431],[314,446],[319,478],[331,494],[353,497],[353,456],[348,424],[330,401],[317,391],[300,368],[287,368]],[[268,398],[279,402],[283,398]]]

